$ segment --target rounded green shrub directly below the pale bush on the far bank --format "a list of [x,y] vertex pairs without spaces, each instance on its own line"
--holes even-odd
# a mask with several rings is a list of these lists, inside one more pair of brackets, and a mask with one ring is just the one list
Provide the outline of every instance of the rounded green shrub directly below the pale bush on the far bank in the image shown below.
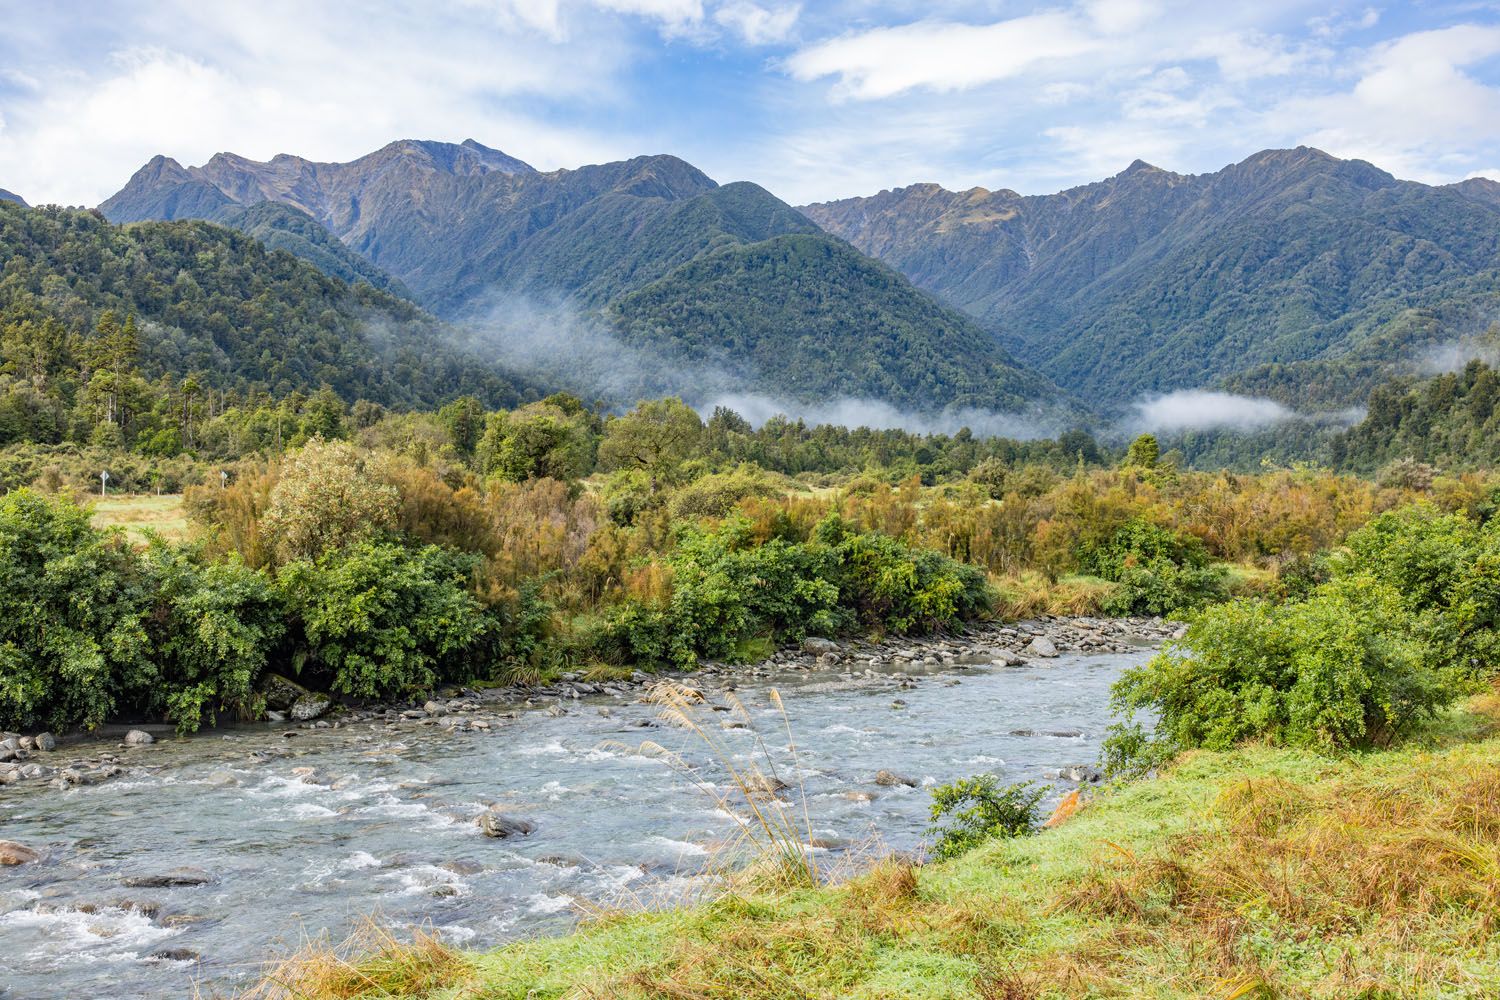
[[363,699],[411,696],[474,676],[496,628],[468,591],[478,558],[362,541],[282,567],[278,591],[297,624],[297,669]]

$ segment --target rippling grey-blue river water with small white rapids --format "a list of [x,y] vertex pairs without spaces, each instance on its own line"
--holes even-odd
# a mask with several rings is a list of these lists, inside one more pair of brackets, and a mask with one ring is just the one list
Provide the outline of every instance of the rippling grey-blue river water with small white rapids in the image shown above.
[[[932,786],[978,771],[1050,778],[1094,760],[1108,685],[1148,655],[934,669],[904,690],[888,676],[777,678],[813,837],[832,850],[921,846],[926,787],[878,787],[879,769]],[[741,682],[736,694],[777,766],[790,768],[770,687]],[[376,723],[284,738],[254,727],[153,747],[108,784],[0,792],[0,837],[46,852],[42,864],[0,870],[0,997],[232,987],[274,949],[324,930],[342,937],[372,913],[480,948],[562,931],[579,898],[686,898],[734,825],[669,763],[632,750],[652,739],[724,780],[694,738],[642,726],[656,714],[591,699],[489,733]],[[705,718],[728,717],[705,708]],[[752,753],[748,732],[724,738]],[[474,817],[494,804],[537,831],[480,835]],[[176,868],[212,880],[124,885]]]

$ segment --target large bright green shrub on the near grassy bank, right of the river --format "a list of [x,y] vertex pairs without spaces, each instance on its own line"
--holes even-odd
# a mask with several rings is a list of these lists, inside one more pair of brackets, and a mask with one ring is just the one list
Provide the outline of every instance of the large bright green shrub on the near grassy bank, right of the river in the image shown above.
[[[1410,630],[1401,594],[1371,577],[1305,601],[1239,600],[1194,616],[1184,639],[1114,685],[1126,721],[1106,741],[1112,772],[1179,750],[1264,738],[1316,750],[1383,747],[1461,691]],[[1155,717],[1148,736],[1134,717]]]

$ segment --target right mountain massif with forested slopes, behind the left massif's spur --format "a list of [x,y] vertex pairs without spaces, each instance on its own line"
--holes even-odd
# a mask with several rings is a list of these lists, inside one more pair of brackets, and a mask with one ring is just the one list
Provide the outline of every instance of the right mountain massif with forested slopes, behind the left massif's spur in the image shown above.
[[1299,147],[1137,160],[1054,195],[936,184],[802,211],[1088,399],[1220,385],[1347,405],[1500,309],[1500,184]]

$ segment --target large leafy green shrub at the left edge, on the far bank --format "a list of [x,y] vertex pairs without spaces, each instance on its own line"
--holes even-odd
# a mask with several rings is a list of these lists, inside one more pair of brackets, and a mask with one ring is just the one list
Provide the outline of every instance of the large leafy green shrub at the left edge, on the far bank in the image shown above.
[[0,727],[96,727],[154,667],[150,588],[118,532],[66,496],[0,498]]

